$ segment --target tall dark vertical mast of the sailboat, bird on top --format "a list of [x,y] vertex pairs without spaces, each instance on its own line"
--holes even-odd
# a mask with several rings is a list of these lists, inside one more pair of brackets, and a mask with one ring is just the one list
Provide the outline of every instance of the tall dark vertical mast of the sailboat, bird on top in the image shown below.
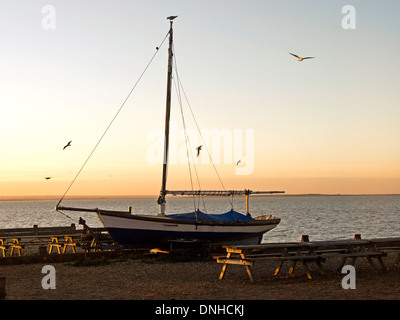
[[177,16],[170,16],[167,19],[170,21],[169,27],[169,48],[168,48],[168,70],[167,70],[167,99],[166,99],[166,110],[165,110],[165,137],[164,137],[164,161],[163,161],[163,176],[160,196],[157,203],[160,206],[159,216],[165,215],[165,195],[167,186],[167,170],[168,170],[168,149],[169,149],[169,118],[171,114],[171,84],[172,84],[172,43],[173,43],[173,31],[172,23]]

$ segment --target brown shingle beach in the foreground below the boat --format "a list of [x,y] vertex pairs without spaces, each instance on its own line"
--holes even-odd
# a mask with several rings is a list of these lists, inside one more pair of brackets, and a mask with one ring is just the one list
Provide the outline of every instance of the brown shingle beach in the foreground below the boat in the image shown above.
[[[307,279],[302,266],[292,276],[283,269],[273,276],[276,261],[252,266],[251,283],[243,266],[229,266],[223,280],[222,265],[214,260],[188,262],[154,258],[119,258],[98,265],[74,266],[71,262],[0,265],[6,277],[7,300],[398,300],[400,269],[394,254],[384,258],[386,272],[373,270],[368,262],[355,264],[356,289],[343,289],[345,274],[339,260],[324,263],[325,275],[310,268]],[[55,269],[56,289],[43,289],[42,268]]]

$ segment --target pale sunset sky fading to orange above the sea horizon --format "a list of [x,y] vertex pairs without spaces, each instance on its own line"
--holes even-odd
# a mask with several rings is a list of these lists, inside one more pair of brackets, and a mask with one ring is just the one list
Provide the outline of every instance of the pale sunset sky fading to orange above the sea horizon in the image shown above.
[[[207,146],[226,189],[400,193],[400,2],[353,0],[355,29],[344,29],[348,4],[0,1],[0,197],[64,194],[170,15],[178,15],[175,58],[197,123],[227,137]],[[158,194],[167,45],[68,195]],[[298,62],[289,52],[315,58]],[[175,89],[172,100],[168,189],[190,189]],[[183,107],[194,132],[185,99]],[[194,140],[202,189],[220,189]]]

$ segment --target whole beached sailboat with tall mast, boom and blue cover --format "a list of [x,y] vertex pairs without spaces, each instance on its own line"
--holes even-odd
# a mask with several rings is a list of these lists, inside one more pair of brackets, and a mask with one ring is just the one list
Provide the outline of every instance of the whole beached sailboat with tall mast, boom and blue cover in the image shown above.
[[[57,211],[95,212],[115,242],[128,247],[157,246],[168,241],[199,241],[212,244],[258,244],[267,231],[275,228],[279,218],[270,215],[251,217],[249,213],[249,196],[251,194],[284,193],[284,191],[252,191],[244,190],[181,190],[167,189],[167,167],[169,149],[169,123],[171,110],[171,80],[173,63],[173,20],[170,20],[168,69],[167,69],[167,96],[165,113],[165,140],[164,163],[162,170],[162,185],[157,200],[158,214],[132,214],[130,211],[111,211],[103,209],[74,208],[56,206]],[[158,50],[158,48],[157,48]],[[166,214],[166,196],[181,195],[193,197],[233,197],[245,196],[246,214],[241,214],[233,208],[223,214],[209,214],[195,209],[193,212],[180,214]]]

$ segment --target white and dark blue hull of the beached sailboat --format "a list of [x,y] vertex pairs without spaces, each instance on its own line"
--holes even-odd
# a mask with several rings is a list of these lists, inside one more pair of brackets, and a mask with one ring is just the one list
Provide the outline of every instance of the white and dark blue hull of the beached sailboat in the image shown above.
[[258,244],[265,232],[275,228],[280,219],[251,222],[211,223],[98,212],[114,241],[130,247],[157,245],[169,240],[198,240],[214,244]]

